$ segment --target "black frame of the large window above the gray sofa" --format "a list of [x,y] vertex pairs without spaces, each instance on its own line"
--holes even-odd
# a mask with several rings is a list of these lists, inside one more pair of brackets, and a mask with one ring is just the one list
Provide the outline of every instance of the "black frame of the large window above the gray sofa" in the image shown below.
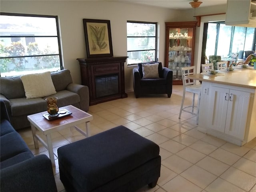
[[[10,36],[0,36],[3,38],[49,38],[49,37],[54,37],[57,38],[58,40],[58,54],[42,54],[42,55],[26,55],[26,56],[7,56],[7,57],[0,57],[0,59],[8,59],[8,58],[33,58],[33,57],[40,57],[40,56],[59,56],[59,60],[60,60],[60,70],[64,69],[63,66],[63,62],[62,62],[62,47],[61,47],[61,42],[60,42],[60,30],[59,30],[59,21],[58,21],[58,16],[53,16],[53,15],[39,15],[39,14],[23,14],[23,13],[8,13],[8,12],[0,12],[0,15],[5,15],[5,16],[22,16],[22,17],[41,17],[41,18],[55,18],[56,20],[56,32],[57,35],[48,35],[48,36],[44,36],[44,35],[39,35],[39,36],[35,36],[35,35],[10,35]],[[53,72],[53,71],[52,71]]]

